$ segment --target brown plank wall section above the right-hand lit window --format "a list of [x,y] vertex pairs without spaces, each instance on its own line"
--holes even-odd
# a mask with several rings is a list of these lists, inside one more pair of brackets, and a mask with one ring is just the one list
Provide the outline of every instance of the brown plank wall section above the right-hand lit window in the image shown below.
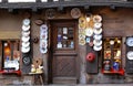
[[93,10],[94,13],[101,14],[103,18],[103,35],[104,36],[129,36],[133,35],[133,11],[132,9],[100,8]]

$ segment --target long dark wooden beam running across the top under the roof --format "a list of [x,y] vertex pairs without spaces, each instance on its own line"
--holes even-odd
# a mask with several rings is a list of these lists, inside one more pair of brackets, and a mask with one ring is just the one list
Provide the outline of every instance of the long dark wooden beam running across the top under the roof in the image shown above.
[[90,1],[61,1],[61,2],[27,2],[27,3],[0,3],[0,9],[32,9],[34,8],[58,8],[58,7],[84,7],[84,6],[90,6],[90,7],[110,7],[110,6],[115,6],[115,7],[124,7],[124,8],[133,8],[133,1],[127,2],[127,1],[120,1],[120,2],[90,2]]

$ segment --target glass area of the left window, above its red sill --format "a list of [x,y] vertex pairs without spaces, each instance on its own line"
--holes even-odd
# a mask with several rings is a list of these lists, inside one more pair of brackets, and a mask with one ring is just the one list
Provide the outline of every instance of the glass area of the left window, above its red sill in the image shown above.
[[20,51],[18,41],[2,41],[3,47],[3,68],[19,69]]

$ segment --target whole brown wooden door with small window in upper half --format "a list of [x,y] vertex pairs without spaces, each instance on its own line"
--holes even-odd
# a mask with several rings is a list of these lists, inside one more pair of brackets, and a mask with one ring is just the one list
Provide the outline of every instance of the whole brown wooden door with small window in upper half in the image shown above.
[[75,21],[51,23],[51,54],[52,82],[76,83]]

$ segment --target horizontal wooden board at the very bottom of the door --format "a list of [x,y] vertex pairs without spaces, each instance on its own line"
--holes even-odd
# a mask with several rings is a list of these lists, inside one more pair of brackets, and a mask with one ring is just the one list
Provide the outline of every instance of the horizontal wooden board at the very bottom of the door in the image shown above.
[[53,84],[76,84],[75,77],[53,77]]

